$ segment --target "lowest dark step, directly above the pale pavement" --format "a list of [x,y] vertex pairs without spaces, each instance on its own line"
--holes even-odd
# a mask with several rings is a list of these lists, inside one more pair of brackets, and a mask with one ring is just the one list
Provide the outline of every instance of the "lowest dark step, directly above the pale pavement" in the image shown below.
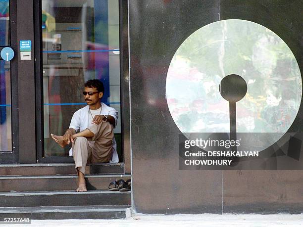
[[29,218],[30,220],[122,219],[129,212],[130,205],[0,207],[0,221],[4,221],[4,218]]

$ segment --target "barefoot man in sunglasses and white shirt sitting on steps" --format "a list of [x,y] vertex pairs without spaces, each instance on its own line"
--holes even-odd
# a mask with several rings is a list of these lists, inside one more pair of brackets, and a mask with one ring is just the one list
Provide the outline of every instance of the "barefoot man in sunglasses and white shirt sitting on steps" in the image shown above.
[[76,191],[87,191],[84,179],[86,164],[119,161],[113,136],[118,112],[101,102],[104,86],[100,80],[89,80],[84,87],[87,106],[74,113],[69,129],[63,136],[51,134],[61,147],[72,142],[79,177]]

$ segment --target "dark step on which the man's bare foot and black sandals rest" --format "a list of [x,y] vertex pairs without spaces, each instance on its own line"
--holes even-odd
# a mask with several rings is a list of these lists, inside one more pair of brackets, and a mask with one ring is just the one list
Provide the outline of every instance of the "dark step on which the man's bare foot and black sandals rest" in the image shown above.
[[[131,205],[131,192],[120,191],[35,191],[0,193],[0,207]],[[4,209],[5,210],[5,209]]]

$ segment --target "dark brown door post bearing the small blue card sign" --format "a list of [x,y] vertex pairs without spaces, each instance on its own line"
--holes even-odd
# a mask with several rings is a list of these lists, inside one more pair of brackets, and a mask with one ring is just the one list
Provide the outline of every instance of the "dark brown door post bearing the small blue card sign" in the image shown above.
[[[36,162],[34,18],[32,0],[9,0],[12,151],[0,152],[0,163]],[[24,19],[23,19],[24,18]],[[20,41],[32,42],[32,59],[21,61]]]

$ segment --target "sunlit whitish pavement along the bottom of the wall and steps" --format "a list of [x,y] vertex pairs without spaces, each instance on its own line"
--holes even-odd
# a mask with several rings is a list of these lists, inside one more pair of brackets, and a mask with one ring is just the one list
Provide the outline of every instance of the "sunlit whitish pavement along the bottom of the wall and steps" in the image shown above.
[[[20,226],[20,225],[14,225]],[[27,226],[27,225],[24,225]],[[303,214],[289,215],[135,215],[120,220],[33,220],[28,227],[268,227],[268,226],[303,226]]]

